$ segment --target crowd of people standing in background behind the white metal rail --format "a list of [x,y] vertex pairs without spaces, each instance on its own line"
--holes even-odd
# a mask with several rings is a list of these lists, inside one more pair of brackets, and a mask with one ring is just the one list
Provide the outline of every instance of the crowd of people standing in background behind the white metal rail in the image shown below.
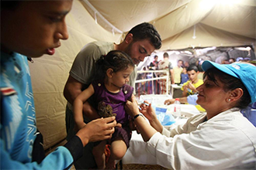
[[[158,72],[152,72],[152,73],[138,73],[137,80],[145,80],[145,79],[151,79],[154,80],[148,80],[143,81],[141,83],[136,83],[136,91],[137,95],[145,95],[145,94],[166,94],[166,88],[169,88],[168,91],[170,91],[171,84],[178,84],[183,85],[184,83],[188,83],[189,74],[188,68],[190,66],[197,67],[198,73],[198,79],[202,80],[203,70],[201,68],[203,59],[192,57],[188,60],[182,60],[178,59],[177,65],[174,66],[170,62],[170,58],[168,53],[163,54],[163,60],[158,60],[159,57],[157,55],[154,55],[154,60],[150,62],[148,66],[143,66],[142,70],[168,70],[169,73],[169,87],[166,87],[166,79],[161,79],[161,77],[166,76],[166,73],[158,73]],[[215,63],[220,64],[230,64],[234,62],[250,62],[250,58],[243,58],[243,57],[237,57],[237,59],[230,57],[227,59],[227,57],[219,56],[216,58]],[[155,80],[157,79],[157,80]]]

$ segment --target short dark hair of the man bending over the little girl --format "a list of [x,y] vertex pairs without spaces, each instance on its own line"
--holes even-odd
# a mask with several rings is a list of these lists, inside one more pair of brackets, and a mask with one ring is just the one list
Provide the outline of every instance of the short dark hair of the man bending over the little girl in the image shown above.
[[160,49],[162,46],[161,37],[157,29],[148,22],[134,26],[133,29],[130,29],[129,33],[133,34],[134,41],[149,39],[155,49]]

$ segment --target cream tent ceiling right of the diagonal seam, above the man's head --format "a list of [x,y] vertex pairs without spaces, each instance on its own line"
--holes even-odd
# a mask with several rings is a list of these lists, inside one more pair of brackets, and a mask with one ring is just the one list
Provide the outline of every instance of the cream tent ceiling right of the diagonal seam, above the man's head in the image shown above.
[[126,33],[141,22],[152,23],[163,40],[162,50],[256,41],[255,0],[83,0],[81,4],[109,32]]

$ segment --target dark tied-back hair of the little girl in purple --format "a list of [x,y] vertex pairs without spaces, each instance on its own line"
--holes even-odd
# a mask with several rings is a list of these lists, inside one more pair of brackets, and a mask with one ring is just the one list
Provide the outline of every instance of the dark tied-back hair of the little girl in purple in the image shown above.
[[106,56],[101,56],[96,62],[96,78],[104,78],[106,70],[111,68],[114,73],[126,70],[129,66],[134,67],[133,59],[123,51],[113,50]]

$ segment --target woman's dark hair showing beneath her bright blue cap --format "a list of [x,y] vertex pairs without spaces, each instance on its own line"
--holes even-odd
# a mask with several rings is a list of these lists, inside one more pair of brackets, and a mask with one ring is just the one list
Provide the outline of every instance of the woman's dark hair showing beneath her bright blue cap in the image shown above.
[[240,109],[242,109],[247,107],[251,103],[251,96],[247,88],[244,86],[244,83],[240,79],[237,79],[234,76],[230,76],[227,73],[223,73],[215,67],[206,70],[206,72],[203,74],[203,78],[205,79],[206,76],[208,80],[212,80],[214,83],[216,83],[216,78],[218,78],[218,80],[220,80],[224,84],[223,90],[225,92],[227,92],[228,90],[235,90],[237,88],[240,88],[244,91],[243,96],[240,97],[240,100],[237,101],[235,107],[239,107]]

